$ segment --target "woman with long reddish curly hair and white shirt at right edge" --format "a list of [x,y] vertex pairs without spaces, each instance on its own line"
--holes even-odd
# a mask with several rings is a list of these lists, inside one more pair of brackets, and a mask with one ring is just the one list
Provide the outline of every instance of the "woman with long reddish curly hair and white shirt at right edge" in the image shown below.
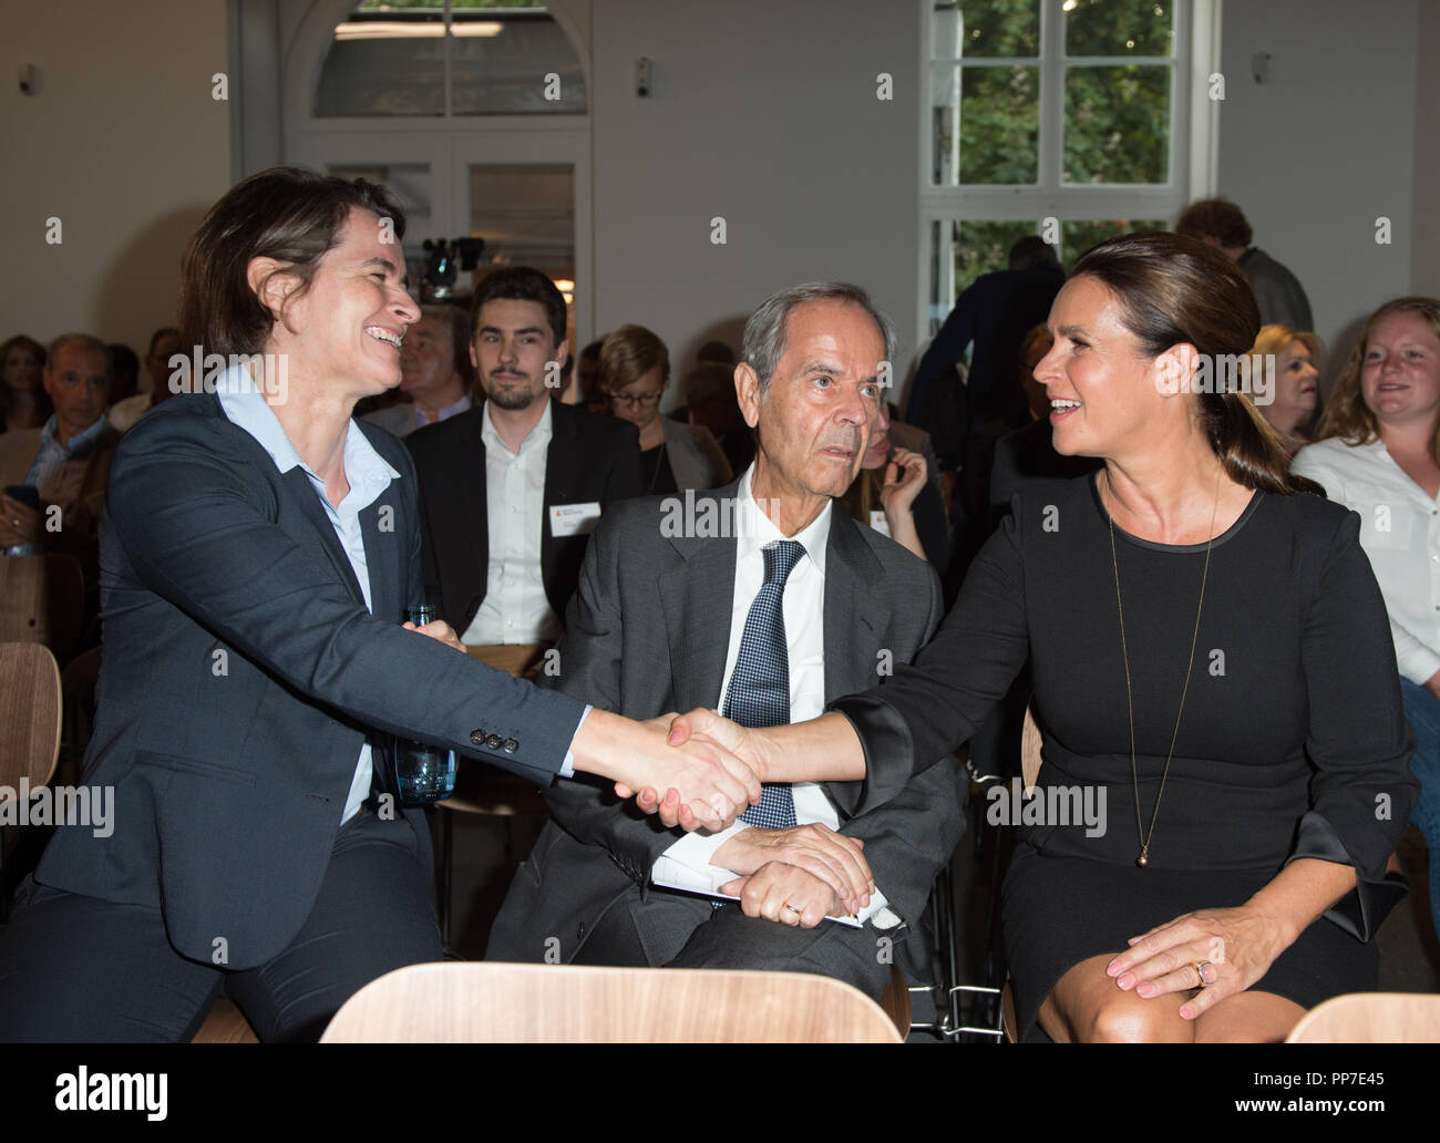
[[1293,469],[1361,515],[1416,734],[1410,821],[1430,848],[1440,931],[1440,301],[1400,298],[1371,315],[1315,435]]

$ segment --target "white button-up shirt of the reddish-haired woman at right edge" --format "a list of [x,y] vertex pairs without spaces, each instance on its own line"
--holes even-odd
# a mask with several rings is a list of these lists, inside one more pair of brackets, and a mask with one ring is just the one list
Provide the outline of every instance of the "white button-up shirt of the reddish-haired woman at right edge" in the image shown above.
[[1390,612],[1400,674],[1424,685],[1440,671],[1440,498],[1426,495],[1384,443],[1308,445],[1292,471],[1359,512],[1359,543]]

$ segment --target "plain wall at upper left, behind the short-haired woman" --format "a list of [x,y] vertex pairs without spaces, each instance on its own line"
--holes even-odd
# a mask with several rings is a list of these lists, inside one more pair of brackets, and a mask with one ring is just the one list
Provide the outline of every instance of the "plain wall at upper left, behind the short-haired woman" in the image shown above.
[[[225,0],[6,3],[0,19],[0,338],[82,330],[144,354],[174,321],[186,239],[230,184],[210,82],[228,68]],[[22,63],[37,95],[20,94]]]

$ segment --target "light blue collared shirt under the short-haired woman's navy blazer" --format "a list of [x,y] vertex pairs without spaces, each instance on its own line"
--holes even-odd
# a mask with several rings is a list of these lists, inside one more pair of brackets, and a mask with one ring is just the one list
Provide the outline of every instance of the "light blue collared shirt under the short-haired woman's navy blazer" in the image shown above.
[[[350,484],[350,491],[346,492],[340,504],[331,504],[325,495],[325,482],[310,465],[300,459],[300,453],[295,452],[295,446],[285,436],[285,429],[281,428],[275,413],[265,403],[265,397],[255,387],[255,381],[245,366],[230,366],[226,370],[223,380],[216,386],[216,397],[220,402],[220,409],[230,422],[245,429],[245,432],[259,442],[261,448],[271,455],[275,468],[281,474],[289,472],[297,465],[304,469],[310,478],[311,488],[315,489],[315,495],[320,497],[320,502],[325,508],[330,525],[340,538],[340,547],[344,548],[346,556],[350,559],[350,567],[354,570],[356,580],[360,583],[360,592],[364,596],[364,606],[373,610],[370,605],[370,567],[364,557],[360,512],[374,504],[380,494],[389,488],[390,481],[400,479],[400,474],[390,468],[389,462],[374,451],[370,442],[366,441],[360,426],[351,419],[350,428],[346,430],[344,455],[346,481]],[[344,813],[340,816],[341,822],[348,822],[360,810],[360,803],[370,796],[372,769],[370,743],[366,741],[360,746],[354,777],[350,779],[350,793],[346,798]]]

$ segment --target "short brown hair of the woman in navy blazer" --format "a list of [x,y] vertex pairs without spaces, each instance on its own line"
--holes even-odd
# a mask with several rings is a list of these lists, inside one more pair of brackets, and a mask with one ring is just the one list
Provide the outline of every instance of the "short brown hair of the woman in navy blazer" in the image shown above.
[[275,314],[251,289],[251,259],[284,262],[304,292],[320,259],[340,243],[350,207],[390,219],[399,250],[405,214],[376,183],[271,167],[230,187],[210,207],[180,259],[183,344],[225,356],[259,353]]

